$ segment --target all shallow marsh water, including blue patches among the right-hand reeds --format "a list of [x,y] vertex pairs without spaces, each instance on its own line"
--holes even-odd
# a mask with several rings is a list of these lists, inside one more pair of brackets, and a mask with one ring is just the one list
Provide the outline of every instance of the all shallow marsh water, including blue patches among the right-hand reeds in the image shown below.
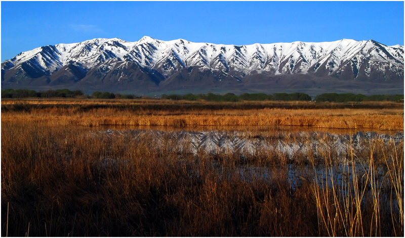
[[[375,149],[372,148],[373,145],[377,143],[386,149],[391,146],[391,153],[392,146],[403,146],[403,131],[330,131],[313,128],[290,130],[291,128],[268,127],[244,127],[239,130],[196,129],[110,127],[91,133],[93,136],[124,137],[134,143],[147,138],[147,141],[151,141],[150,147],[154,149],[170,147],[171,150],[177,151],[179,161],[183,160],[183,153],[194,154],[196,160],[201,151],[203,155],[212,155],[213,158],[218,154],[231,153],[240,158],[239,164],[229,166],[215,159],[209,162],[210,171],[220,179],[287,186],[292,193],[304,183],[311,187],[317,184],[321,191],[334,187],[336,196],[341,201],[354,201],[357,184],[357,191],[362,191],[359,198],[362,203],[370,198],[373,200],[376,195],[373,193],[377,193],[379,206],[395,211],[400,209],[387,166],[384,163],[371,166],[370,153]],[[260,156],[261,153],[265,156],[275,154],[278,156],[276,159],[284,158],[285,161],[275,165],[250,163],[250,159]],[[308,163],[309,157],[322,158],[323,162],[314,163],[312,159],[312,162]],[[301,162],[296,163],[297,158],[301,158]],[[305,160],[306,162],[302,163]],[[118,163],[125,164],[127,161],[104,158],[100,165],[111,168],[116,167]],[[191,165],[189,176],[193,178],[203,174],[198,171],[198,166]],[[403,172],[400,182],[403,186]],[[277,190],[277,187],[274,189]]]

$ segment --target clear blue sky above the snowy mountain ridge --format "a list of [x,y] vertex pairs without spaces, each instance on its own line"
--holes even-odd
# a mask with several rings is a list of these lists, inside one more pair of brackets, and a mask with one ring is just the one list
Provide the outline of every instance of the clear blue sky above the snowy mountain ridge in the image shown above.
[[404,2],[2,2],[2,62],[35,47],[144,35],[253,44],[403,45]]

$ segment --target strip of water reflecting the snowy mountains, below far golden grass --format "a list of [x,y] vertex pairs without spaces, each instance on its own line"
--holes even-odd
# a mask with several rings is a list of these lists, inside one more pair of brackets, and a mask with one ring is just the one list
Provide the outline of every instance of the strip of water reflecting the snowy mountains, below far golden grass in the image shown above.
[[194,154],[203,150],[210,154],[233,153],[252,156],[261,151],[273,151],[294,159],[299,154],[311,154],[314,157],[325,156],[333,151],[334,159],[345,161],[352,153],[355,155],[370,148],[371,141],[398,144],[403,141],[403,133],[378,133],[357,131],[353,134],[341,134],[322,131],[238,131],[238,130],[157,130],[157,129],[107,129],[96,132],[97,135],[125,136],[132,140],[150,136],[151,146],[161,147],[168,139],[175,141],[179,152],[188,150]]

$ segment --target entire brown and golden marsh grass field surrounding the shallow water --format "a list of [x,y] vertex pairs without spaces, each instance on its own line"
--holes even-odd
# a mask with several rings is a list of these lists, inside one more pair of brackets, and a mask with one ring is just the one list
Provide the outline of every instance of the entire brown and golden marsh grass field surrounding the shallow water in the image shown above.
[[204,126],[308,144],[304,128],[403,133],[403,103],[7,100],[1,116],[2,236],[404,235],[403,139],[347,148],[342,170],[327,140],[287,158],[99,133]]

